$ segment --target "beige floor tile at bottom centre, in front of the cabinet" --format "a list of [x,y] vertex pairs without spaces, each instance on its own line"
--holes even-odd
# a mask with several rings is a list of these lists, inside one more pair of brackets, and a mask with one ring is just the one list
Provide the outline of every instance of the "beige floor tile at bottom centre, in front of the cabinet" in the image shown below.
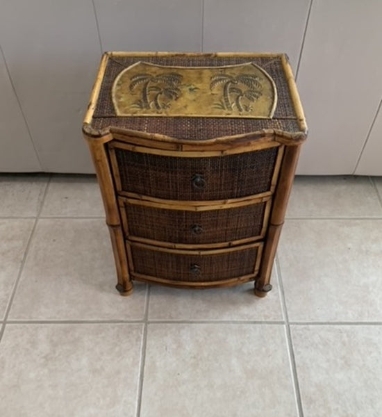
[[297,416],[283,325],[150,324],[140,415]]

